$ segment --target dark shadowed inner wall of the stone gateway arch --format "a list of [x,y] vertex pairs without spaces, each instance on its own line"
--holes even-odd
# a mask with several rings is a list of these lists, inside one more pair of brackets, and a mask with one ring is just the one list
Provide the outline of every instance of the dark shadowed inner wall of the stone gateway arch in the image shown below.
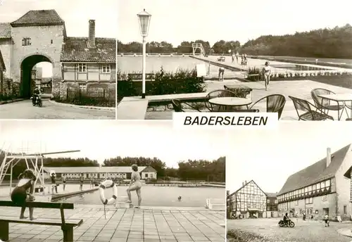
[[20,73],[20,94],[23,96],[23,98],[30,98],[30,96],[32,96],[33,89],[36,86],[36,79],[35,75],[32,75],[32,70],[34,66],[37,65],[37,63],[42,62],[51,63],[51,60],[46,56],[33,55],[28,56],[22,61]]

